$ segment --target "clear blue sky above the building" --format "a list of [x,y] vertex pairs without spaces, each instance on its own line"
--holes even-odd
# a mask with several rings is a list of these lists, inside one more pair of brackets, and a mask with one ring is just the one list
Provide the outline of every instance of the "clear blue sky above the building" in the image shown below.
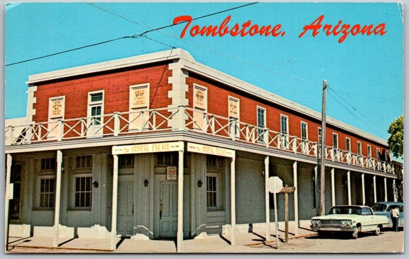
[[[193,18],[244,3],[22,3],[6,8],[6,65],[170,25],[174,17]],[[338,36],[303,27],[320,15],[325,23],[386,23],[383,36]],[[403,113],[403,26],[396,3],[258,3],[193,21],[200,26],[281,24],[284,37],[191,37],[180,40],[183,25],[154,31],[52,57],[6,66],[6,119],[26,115],[27,85],[32,74],[175,48],[199,62],[321,111],[322,81],[337,92],[327,95],[327,115],[383,139],[389,124]],[[192,25],[193,25],[192,24]],[[191,26],[192,26],[191,25]],[[172,37],[173,36],[173,37]],[[227,57],[229,56],[229,57]],[[240,61],[239,61],[240,60]],[[261,68],[263,67],[263,68]],[[285,74],[285,75],[283,75]],[[303,80],[300,80],[303,79]],[[315,83],[311,83],[311,82]],[[332,96],[331,96],[332,94]],[[342,104],[340,104],[342,103]],[[348,108],[348,110],[345,108]],[[351,112],[350,112],[351,111]]]

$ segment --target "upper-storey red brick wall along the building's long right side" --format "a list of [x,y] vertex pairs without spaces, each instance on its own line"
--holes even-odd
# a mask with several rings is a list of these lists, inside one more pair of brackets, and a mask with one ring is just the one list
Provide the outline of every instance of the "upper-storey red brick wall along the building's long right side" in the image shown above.
[[[318,141],[318,128],[321,127],[321,121],[307,117],[301,113],[297,113],[284,107],[280,107],[274,103],[268,103],[264,100],[256,97],[249,96],[247,93],[240,92],[232,89],[228,86],[222,85],[218,82],[203,78],[199,75],[190,73],[189,78],[186,79],[189,85],[189,91],[187,98],[189,100],[189,106],[193,107],[193,84],[199,84],[208,87],[208,112],[217,114],[220,116],[228,117],[228,96],[236,97],[240,99],[240,121],[251,125],[257,125],[257,106],[261,106],[266,109],[267,128],[277,132],[281,131],[281,114],[288,116],[288,130],[292,136],[301,137],[301,121],[308,124],[308,139],[312,142]],[[357,153],[357,140],[361,142],[362,155],[367,156],[367,145],[371,145],[372,157],[376,158],[376,148],[382,150],[385,147],[378,145],[375,142],[369,140],[363,140],[355,134],[349,134],[346,131],[337,129],[327,124],[326,131],[326,144],[327,146],[333,146],[332,133],[338,134],[338,147],[339,149],[346,150],[346,137],[351,138],[351,152]]]

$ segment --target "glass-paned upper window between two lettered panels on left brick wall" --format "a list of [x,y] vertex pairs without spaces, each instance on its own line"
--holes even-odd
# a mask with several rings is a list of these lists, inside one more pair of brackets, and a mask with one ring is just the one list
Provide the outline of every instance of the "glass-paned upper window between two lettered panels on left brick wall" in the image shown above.
[[87,136],[103,134],[104,90],[88,92]]

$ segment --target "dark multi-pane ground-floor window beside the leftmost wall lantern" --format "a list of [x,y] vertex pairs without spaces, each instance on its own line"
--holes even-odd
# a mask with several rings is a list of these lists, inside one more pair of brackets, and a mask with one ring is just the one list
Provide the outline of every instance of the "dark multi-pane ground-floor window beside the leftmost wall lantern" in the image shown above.
[[92,176],[90,174],[74,175],[74,206],[90,208],[92,206]]

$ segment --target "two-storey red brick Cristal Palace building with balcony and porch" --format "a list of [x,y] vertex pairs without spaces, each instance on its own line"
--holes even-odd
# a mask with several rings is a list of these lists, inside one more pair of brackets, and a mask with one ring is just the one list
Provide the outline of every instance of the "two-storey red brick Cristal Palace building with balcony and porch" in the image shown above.
[[[290,220],[319,214],[321,113],[184,50],[27,84],[27,116],[5,129],[10,236],[177,237],[179,249],[231,233],[234,244],[250,225],[268,231],[270,176],[296,187]],[[327,211],[397,199],[385,140],[327,117],[325,149]],[[283,195],[277,207],[283,221]]]

